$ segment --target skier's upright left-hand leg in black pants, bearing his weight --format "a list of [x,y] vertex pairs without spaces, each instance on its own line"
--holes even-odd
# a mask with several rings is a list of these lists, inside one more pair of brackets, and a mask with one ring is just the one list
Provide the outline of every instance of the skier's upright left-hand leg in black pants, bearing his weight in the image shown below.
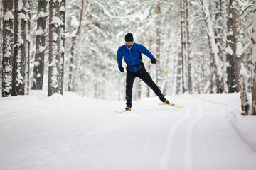
[[127,79],[126,79],[126,96],[125,99],[127,100],[127,107],[132,107],[132,86],[134,83],[136,75],[133,72],[127,72]]

